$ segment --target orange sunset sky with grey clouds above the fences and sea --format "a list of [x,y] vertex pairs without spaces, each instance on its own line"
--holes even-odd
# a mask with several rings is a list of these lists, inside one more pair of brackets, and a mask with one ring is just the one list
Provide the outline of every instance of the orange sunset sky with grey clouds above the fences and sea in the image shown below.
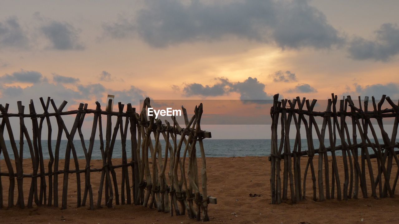
[[[40,105],[47,96],[68,110],[94,108],[107,94],[135,106],[147,96],[397,99],[398,8],[390,0],[5,0],[0,103],[13,112],[18,100]],[[215,138],[262,138],[268,129],[207,128]]]

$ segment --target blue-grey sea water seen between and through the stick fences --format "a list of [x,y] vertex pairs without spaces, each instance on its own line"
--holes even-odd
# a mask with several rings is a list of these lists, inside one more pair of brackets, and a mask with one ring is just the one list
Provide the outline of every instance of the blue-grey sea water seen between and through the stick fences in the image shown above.
[[[307,141],[302,139],[302,147],[301,150],[305,151],[308,149]],[[318,140],[314,140],[314,148],[318,149],[319,142]],[[361,140],[358,140],[361,142]],[[19,141],[16,142],[18,151],[19,151]],[[55,140],[51,141],[51,149],[55,150]],[[105,143],[105,142],[104,142]],[[113,150],[113,158],[121,158],[122,157],[122,144],[121,140],[115,141],[115,146]],[[155,145],[155,141],[152,141],[153,145]],[[165,149],[165,140],[160,140],[162,145],[162,155],[164,155]],[[76,153],[79,159],[85,159],[85,155],[83,153],[83,148],[80,140],[74,140],[73,144],[75,145]],[[330,146],[329,141],[325,141],[326,147]],[[336,145],[340,145],[340,140],[337,140]],[[85,141],[86,148],[89,147],[89,140]],[[270,139],[204,139],[203,145],[205,149],[205,155],[207,157],[242,157],[242,156],[267,156],[270,155],[271,149],[271,140]],[[291,150],[294,146],[294,140],[290,140]],[[42,151],[43,151],[43,159],[49,159],[49,152],[47,147],[47,140],[41,141]],[[13,159],[14,153],[12,152],[11,144],[9,140],[6,140],[6,147],[8,154]],[[60,159],[65,158],[65,150],[67,147],[67,140],[61,140],[61,146],[59,150]],[[198,157],[201,156],[199,151],[199,144],[197,143],[197,155]],[[184,143],[181,150],[181,156],[183,156],[184,152]],[[372,154],[373,151],[369,149],[369,152]],[[126,141],[126,155],[128,158],[131,158],[132,149],[130,140]],[[331,155],[328,152],[328,155]],[[341,151],[336,151],[336,155],[342,155]],[[24,141],[24,158],[30,158],[30,152],[28,143],[26,140]],[[72,153],[71,153],[71,158]],[[4,159],[3,153],[0,154],[0,159]],[[93,154],[92,159],[101,159],[101,151],[100,151],[100,141],[95,140],[94,147],[93,147]]]

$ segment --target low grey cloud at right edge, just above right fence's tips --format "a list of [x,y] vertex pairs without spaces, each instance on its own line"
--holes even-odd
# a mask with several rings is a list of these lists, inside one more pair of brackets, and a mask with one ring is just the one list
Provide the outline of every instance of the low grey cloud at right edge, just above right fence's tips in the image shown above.
[[361,86],[358,83],[354,83],[354,87],[355,89],[353,91],[347,90],[342,94],[344,96],[375,96],[375,98],[381,98],[381,96],[385,94],[391,98],[399,98],[399,86],[397,83],[373,84],[366,86]]

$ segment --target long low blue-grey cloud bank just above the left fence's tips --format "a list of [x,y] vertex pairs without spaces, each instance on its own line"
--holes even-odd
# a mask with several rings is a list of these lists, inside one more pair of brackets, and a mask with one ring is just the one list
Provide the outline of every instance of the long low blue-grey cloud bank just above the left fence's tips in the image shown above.
[[130,86],[129,89],[124,90],[112,90],[105,88],[100,83],[91,83],[87,85],[77,84],[76,87],[69,88],[63,84],[79,83],[79,79],[56,74],[53,74],[53,81],[55,83],[49,83],[46,77],[36,71],[21,70],[12,73],[12,75],[4,75],[0,77],[2,83],[32,83],[32,85],[26,87],[0,85],[0,102],[15,103],[18,100],[29,102],[30,99],[38,100],[40,97],[46,96],[51,96],[58,102],[66,100],[69,104],[91,99],[103,102],[106,93],[114,94],[117,102],[120,101],[125,104],[138,104],[139,100],[145,98],[145,92],[135,86]]

